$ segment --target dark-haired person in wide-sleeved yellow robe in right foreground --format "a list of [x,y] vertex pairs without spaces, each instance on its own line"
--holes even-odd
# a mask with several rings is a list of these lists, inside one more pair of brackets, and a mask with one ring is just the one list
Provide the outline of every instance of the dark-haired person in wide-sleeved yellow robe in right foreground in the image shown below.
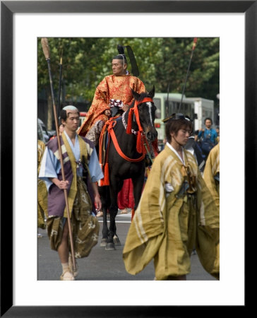
[[135,275],[154,259],[155,280],[186,280],[196,247],[204,269],[219,278],[219,211],[196,159],[184,150],[192,124],[174,114],[165,127],[167,143],[150,170],[123,251]]

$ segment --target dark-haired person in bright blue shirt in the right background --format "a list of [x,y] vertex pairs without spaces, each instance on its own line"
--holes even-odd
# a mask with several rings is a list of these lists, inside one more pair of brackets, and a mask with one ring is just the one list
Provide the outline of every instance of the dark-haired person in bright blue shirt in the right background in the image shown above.
[[213,120],[211,118],[205,118],[205,129],[199,129],[198,135],[195,137],[195,140],[201,140],[200,146],[207,159],[210,150],[217,144],[217,131],[211,128]]

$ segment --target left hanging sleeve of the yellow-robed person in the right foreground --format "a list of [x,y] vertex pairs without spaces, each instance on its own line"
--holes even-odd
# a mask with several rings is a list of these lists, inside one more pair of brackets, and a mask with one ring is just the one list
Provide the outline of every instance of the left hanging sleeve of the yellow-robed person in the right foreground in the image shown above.
[[166,208],[161,161],[155,159],[145,189],[128,230],[123,251],[126,271],[135,275],[155,257],[163,240],[162,213]]

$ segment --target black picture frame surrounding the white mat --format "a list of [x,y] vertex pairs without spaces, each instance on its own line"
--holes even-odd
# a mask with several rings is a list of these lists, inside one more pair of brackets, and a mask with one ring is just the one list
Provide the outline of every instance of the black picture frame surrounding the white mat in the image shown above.
[[[133,5],[131,5],[133,2]],[[1,1],[1,317],[181,317],[193,307],[13,306],[13,13],[245,13],[245,213],[256,196],[257,1]],[[235,66],[236,67],[236,66]],[[235,134],[240,124],[235,126]],[[241,147],[240,147],[241,148]],[[241,148],[242,149],[242,148]],[[251,179],[253,178],[253,183]],[[6,191],[8,189],[8,191]],[[8,212],[8,213],[7,213]],[[6,240],[8,237],[8,240]],[[247,245],[246,245],[247,249]],[[237,278],[235,278],[237,279]],[[132,296],[131,296],[132,297]],[[247,301],[246,301],[247,305]],[[237,307],[237,313],[246,309]],[[209,307],[202,307],[206,313]],[[212,313],[219,310],[212,309]],[[223,313],[225,307],[223,307]],[[231,308],[230,308],[231,310]],[[191,311],[191,314],[193,312]]]

